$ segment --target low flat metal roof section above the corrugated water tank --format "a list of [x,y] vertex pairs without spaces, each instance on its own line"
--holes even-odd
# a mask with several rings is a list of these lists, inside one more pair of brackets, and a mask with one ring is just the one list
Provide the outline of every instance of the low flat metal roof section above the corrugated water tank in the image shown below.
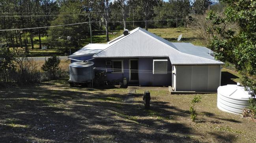
[[74,52],[68,58],[73,58],[73,57],[79,57],[79,56],[86,56],[86,55],[92,55],[96,54],[102,50],[104,50],[107,44],[94,44],[94,43],[89,43],[88,45],[82,47],[80,50]]

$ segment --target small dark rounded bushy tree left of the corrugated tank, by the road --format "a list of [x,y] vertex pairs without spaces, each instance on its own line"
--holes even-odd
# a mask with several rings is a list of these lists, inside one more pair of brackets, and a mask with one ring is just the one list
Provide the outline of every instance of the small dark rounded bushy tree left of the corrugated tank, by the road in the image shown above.
[[56,77],[56,71],[58,69],[60,69],[59,64],[60,64],[60,58],[57,57],[57,56],[51,56],[48,59],[45,58],[45,63],[43,64],[41,69],[43,71],[50,72],[52,74],[53,78],[55,78]]

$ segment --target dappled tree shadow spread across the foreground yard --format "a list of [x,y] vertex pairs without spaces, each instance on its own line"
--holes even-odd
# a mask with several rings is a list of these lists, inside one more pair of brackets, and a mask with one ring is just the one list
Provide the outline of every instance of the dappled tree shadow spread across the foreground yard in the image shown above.
[[1,141],[198,142],[189,136],[201,133],[177,120],[188,111],[161,101],[144,110],[142,101],[128,104],[125,96],[53,83],[0,91]]

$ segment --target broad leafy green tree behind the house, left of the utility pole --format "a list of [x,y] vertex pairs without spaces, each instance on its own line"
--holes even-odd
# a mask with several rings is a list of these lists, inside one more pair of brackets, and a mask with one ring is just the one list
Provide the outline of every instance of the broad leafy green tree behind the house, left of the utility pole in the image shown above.
[[[67,14],[69,13],[69,14]],[[51,25],[65,25],[89,21],[87,13],[84,12],[83,5],[79,1],[69,0],[60,7],[60,14]],[[57,47],[62,52],[69,52],[69,49],[77,50],[82,46],[83,40],[88,35],[89,25],[69,25],[65,27],[51,27],[47,31],[47,43],[51,47]]]

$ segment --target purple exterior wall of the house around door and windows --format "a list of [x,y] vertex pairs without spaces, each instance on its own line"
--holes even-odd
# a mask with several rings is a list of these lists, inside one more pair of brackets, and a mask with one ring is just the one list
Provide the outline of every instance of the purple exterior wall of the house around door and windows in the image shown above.
[[[107,80],[120,80],[123,81],[123,78],[127,78],[129,82],[129,59],[138,59],[138,70],[149,70],[151,73],[139,73],[138,74],[138,83],[142,86],[168,86],[172,85],[172,74],[153,74],[153,59],[159,58],[102,58],[91,60],[94,62],[94,67],[106,68],[106,61],[109,60],[123,60],[123,73],[106,73]],[[163,58],[161,58],[163,59]],[[168,59],[168,58],[167,58]],[[168,59],[168,72],[172,71],[171,63]],[[95,70],[99,71],[99,70]],[[103,70],[101,70],[103,71]],[[105,71],[105,70],[104,70]]]

